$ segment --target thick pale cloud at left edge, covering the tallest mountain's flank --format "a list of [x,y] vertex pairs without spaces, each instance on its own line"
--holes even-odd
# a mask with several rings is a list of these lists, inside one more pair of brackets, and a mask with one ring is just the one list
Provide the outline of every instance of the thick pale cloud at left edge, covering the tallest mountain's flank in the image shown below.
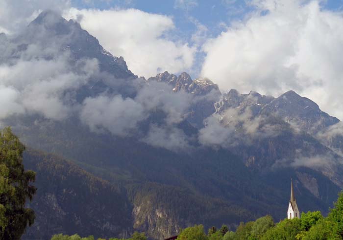
[[[28,47],[26,54],[30,49]],[[38,50],[44,52],[44,49]],[[24,112],[40,113],[55,120],[68,117],[74,102],[73,99],[68,99],[66,93],[86,84],[90,77],[98,72],[98,61],[79,60],[76,63],[76,73],[68,62],[68,53],[51,60],[31,59],[32,55],[28,57],[26,54],[23,55],[28,60],[23,57],[13,65],[0,65],[0,86],[3,94],[0,103],[1,106],[7,106],[1,109],[0,119]],[[32,52],[31,54],[35,55]]]

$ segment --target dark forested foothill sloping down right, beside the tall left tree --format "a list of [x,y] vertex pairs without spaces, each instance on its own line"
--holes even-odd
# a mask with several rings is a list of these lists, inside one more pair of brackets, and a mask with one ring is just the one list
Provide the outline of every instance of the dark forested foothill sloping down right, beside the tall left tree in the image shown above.
[[24,165],[37,173],[38,190],[29,203],[35,223],[23,239],[49,239],[56,233],[127,237],[132,232],[132,206],[118,186],[51,154],[28,150]]

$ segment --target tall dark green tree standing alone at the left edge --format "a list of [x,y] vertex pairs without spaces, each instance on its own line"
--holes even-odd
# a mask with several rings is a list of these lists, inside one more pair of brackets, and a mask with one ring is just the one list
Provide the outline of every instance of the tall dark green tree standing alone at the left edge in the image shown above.
[[33,171],[24,171],[24,145],[10,128],[0,131],[0,239],[20,240],[34,212],[25,202],[36,192]]

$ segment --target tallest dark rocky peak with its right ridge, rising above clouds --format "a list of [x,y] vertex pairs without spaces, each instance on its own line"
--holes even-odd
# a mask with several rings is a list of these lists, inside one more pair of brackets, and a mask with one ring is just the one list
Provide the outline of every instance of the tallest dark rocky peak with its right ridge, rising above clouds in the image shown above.
[[61,53],[70,51],[72,62],[79,59],[97,59],[100,70],[109,72],[118,79],[137,77],[128,69],[123,57],[113,56],[100,45],[97,38],[82,29],[79,23],[67,21],[52,10],[40,13],[15,42],[22,45],[53,46]]

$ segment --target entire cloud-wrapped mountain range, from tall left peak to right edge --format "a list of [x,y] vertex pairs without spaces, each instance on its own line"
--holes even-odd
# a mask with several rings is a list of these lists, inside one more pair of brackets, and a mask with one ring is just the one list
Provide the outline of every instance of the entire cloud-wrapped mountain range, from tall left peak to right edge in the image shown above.
[[38,188],[36,225],[24,239],[78,229],[160,239],[197,223],[234,229],[284,218],[291,177],[300,211],[325,214],[343,187],[341,122],[294,91],[221,93],[187,73],[138,78],[51,11],[1,41],[0,64],[23,96],[1,125],[48,153],[24,157]]

